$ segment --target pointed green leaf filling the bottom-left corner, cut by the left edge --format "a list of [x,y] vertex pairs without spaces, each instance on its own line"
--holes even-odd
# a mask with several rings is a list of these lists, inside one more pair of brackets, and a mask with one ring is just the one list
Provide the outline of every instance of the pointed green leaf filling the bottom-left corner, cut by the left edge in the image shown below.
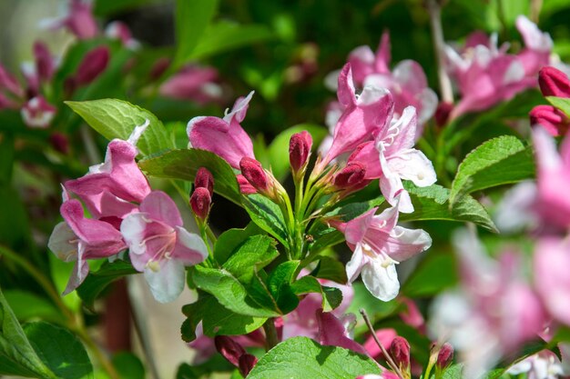
[[0,291],[0,374],[58,379],[37,356]]

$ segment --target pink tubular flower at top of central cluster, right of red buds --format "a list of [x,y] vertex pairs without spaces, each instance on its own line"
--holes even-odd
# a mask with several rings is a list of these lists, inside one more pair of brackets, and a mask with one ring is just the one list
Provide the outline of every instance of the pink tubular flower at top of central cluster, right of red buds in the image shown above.
[[350,64],[344,65],[339,75],[337,95],[344,111],[334,128],[331,149],[323,158],[321,167],[342,153],[372,141],[392,118],[393,101],[387,90],[366,86],[361,95],[356,95]]

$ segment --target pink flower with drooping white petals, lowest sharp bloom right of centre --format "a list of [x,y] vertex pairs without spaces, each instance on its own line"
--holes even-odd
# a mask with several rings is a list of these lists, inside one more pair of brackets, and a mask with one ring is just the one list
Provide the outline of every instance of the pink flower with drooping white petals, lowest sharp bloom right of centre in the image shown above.
[[376,298],[390,301],[400,291],[396,264],[422,253],[432,245],[432,238],[421,229],[397,226],[398,204],[375,214],[378,208],[361,214],[348,223],[334,223],[346,238],[353,254],[346,265],[352,283],[362,276],[366,288]]

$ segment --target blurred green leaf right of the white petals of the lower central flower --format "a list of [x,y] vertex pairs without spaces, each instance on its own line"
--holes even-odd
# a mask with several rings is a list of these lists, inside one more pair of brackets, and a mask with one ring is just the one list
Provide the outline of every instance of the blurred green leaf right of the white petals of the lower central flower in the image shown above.
[[436,254],[428,250],[423,254],[427,254],[425,259],[402,285],[402,294],[408,297],[438,294],[459,280],[451,252]]

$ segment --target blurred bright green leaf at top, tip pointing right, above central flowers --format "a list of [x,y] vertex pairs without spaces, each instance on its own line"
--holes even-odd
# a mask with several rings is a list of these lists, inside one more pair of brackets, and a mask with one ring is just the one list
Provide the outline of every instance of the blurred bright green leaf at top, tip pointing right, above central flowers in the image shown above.
[[265,25],[239,25],[225,20],[219,21],[209,25],[190,58],[203,59],[244,45],[265,41],[272,36],[270,29]]

